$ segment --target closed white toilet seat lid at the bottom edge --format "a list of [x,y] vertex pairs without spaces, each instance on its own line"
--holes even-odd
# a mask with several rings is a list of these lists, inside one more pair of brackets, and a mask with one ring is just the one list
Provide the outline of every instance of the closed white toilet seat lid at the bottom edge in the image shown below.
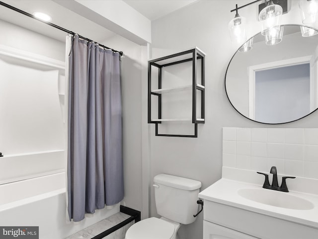
[[174,226],[159,218],[148,218],[131,226],[125,239],[172,239]]

